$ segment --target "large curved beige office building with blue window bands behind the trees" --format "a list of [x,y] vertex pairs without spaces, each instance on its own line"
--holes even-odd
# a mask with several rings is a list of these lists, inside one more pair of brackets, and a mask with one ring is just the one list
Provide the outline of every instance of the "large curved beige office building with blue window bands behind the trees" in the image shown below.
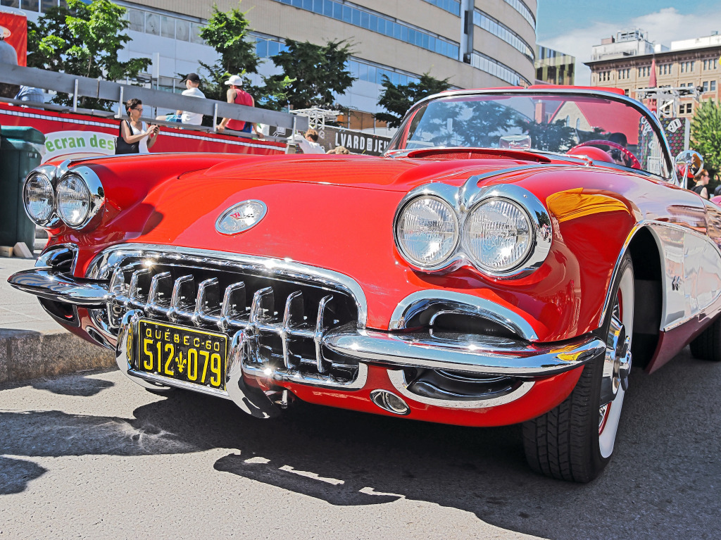
[[[63,0],[0,0],[29,19]],[[536,0],[115,0],[128,8],[124,54],[153,59],[147,74],[161,87],[178,84],[178,74],[213,63],[213,49],[198,31],[212,14],[240,7],[246,12],[257,53],[270,58],[286,38],[311,43],[348,40],[348,68],[357,79],[338,96],[373,125],[383,76],[395,84],[429,73],[458,88],[527,85],[534,81]],[[125,58],[120,58],[124,60]],[[266,61],[263,74],[274,73]],[[200,71],[202,75],[202,71]],[[366,113],[363,115],[362,113]]]

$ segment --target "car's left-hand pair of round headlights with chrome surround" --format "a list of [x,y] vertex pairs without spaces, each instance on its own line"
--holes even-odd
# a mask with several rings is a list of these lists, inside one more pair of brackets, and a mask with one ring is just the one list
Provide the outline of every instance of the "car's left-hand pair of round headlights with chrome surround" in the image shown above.
[[97,224],[105,205],[102,184],[88,167],[65,174],[54,167],[38,167],[25,179],[22,198],[27,216],[48,229],[61,221],[71,229],[88,229]]

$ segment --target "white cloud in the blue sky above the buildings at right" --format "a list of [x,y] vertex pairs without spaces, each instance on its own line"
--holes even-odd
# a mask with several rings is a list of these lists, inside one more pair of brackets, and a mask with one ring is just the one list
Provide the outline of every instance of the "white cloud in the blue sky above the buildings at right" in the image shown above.
[[634,17],[620,26],[618,22],[597,22],[586,28],[571,30],[566,34],[543,40],[541,45],[576,57],[575,84],[590,84],[590,69],[583,62],[590,60],[591,47],[601,45],[604,37],[615,36],[619,30],[640,28],[647,32],[648,40],[667,47],[672,41],[710,35],[721,31],[721,9],[707,13],[681,14],[675,7]]

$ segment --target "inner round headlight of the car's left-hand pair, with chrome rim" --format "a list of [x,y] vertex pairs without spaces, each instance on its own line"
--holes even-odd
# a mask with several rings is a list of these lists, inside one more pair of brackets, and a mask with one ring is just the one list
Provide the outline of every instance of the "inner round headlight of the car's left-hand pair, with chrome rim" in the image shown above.
[[92,169],[79,167],[58,182],[56,200],[58,216],[68,227],[86,229],[102,216],[105,193]]

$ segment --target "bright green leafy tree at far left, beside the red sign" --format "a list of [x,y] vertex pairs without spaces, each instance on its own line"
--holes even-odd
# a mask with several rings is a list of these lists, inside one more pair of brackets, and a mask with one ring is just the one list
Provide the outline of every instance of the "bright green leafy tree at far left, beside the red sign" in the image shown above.
[[[68,0],[67,8],[51,7],[37,23],[27,22],[27,65],[92,79],[135,79],[151,61],[118,61],[118,52],[131,40],[122,33],[130,26],[124,14],[125,8],[110,0]],[[71,102],[65,94],[55,100]],[[81,104],[104,107],[97,99],[83,98]]]

